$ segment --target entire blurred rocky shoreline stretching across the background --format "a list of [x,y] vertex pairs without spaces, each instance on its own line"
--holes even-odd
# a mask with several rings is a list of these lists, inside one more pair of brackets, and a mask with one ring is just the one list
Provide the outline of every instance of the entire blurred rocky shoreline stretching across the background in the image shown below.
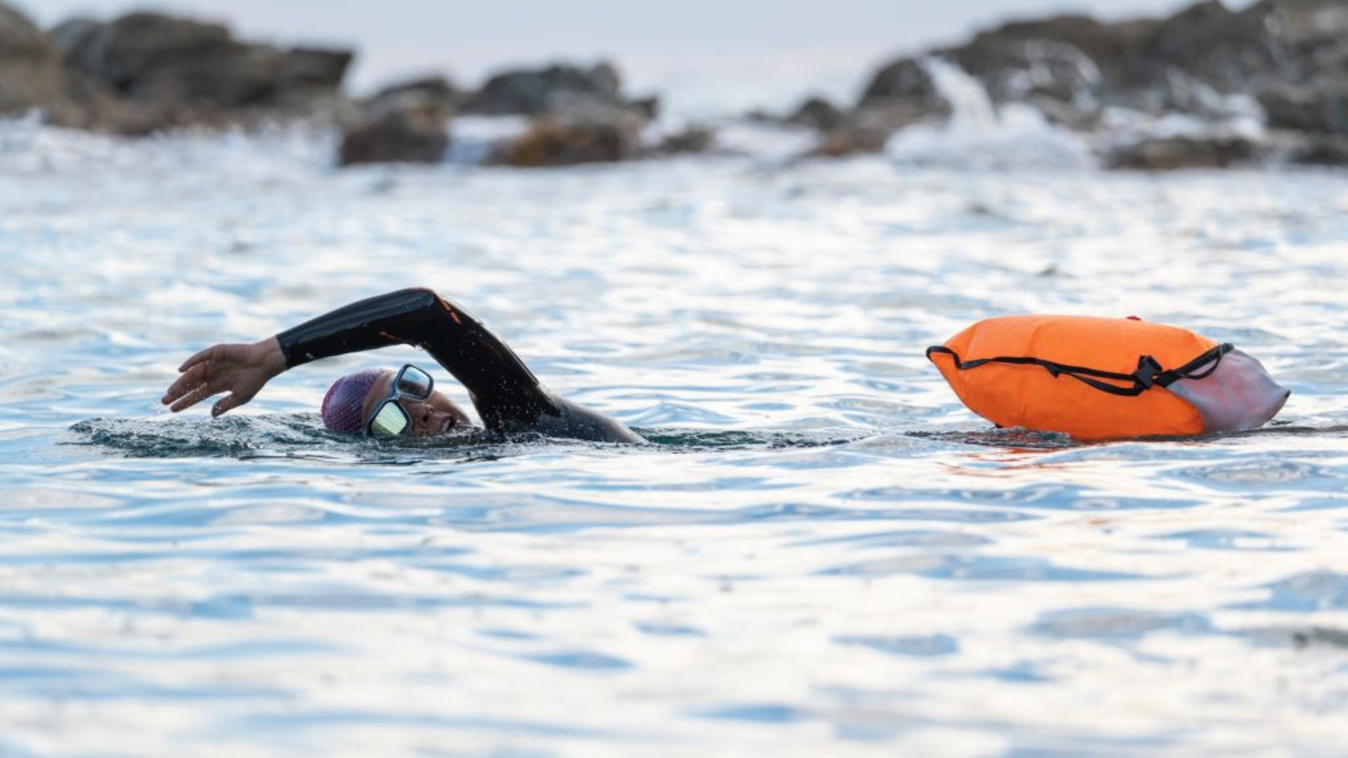
[[[976,84],[989,120],[1016,111],[1080,135],[1116,169],[1225,167],[1270,161],[1348,165],[1348,3],[1208,0],[1163,19],[1066,15],[1006,23],[960,46],[887,62],[855,104],[807,98],[678,134],[655,97],[631,97],[612,65],[503,71],[477,89],[446,77],[344,93],[352,50],[278,47],[228,27],[160,13],[70,19],[40,30],[0,0],[0,116],[143,136],[178,128],[306,121],[344,134],[340,165],[435,163],[457,116],[527,120],[485,162],[559,166],[717,150],[733,121],[816,135],[801,158],[882,152],[918,124],[968,105],[937,74]],[[940,67],[940,66],[944,66]]]

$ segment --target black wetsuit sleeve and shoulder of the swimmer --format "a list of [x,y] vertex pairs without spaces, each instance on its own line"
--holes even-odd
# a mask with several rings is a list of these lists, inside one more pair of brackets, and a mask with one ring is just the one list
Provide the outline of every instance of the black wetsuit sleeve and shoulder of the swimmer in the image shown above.
[[632,430],[559,398],[466,310],[427,289],[399,290],[338,308],[276,334],[286,367],[390,345],[425,349],[468,388],[492,432],[539,432],[604,442],[642,442]]

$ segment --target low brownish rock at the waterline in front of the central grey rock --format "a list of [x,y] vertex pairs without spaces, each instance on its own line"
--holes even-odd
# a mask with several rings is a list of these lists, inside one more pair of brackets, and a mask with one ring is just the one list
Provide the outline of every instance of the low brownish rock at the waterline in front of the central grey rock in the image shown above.
[[640,128],[640,117],[621,111],[604,117],[542,117],[500,146],[488,162],[538,167],[624,161],[636,154]]

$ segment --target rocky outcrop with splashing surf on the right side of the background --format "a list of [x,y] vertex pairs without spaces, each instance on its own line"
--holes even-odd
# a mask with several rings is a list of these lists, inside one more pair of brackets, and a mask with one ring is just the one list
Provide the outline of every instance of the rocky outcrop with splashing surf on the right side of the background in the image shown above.
[[[1206,0],[1165,19],[1012,22],[961,46],[891,61],[852,108],[816,98],[787,120],[818,128],[832,152],[872,151],[914,123],[946,120],[953,104],[930,59],[965,71],[999,109],[1029,108],[1055,127],[1103,138],[1096,142],[1115,167],[1348,163],[1343,0],[1262,0],[1239,12]],[[1189,134],[1122,134],[1126,120],[1167,119],[1182,119]],[[1262,124],[1262,135],[1242,134],[1242,120]]]

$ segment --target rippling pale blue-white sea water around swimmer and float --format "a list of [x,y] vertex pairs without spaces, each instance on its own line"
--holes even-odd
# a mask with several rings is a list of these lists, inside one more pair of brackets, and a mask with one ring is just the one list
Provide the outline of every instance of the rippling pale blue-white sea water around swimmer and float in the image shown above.
[[[1348,743],[1345,174],[0,127],[0,755]],[[410,285],[655,444],[322,432],[411,349],[156,406],[205,345]],[[1211,438],[992,430],[922,351],[1030,312],[1193,328],[1294,394]]]

